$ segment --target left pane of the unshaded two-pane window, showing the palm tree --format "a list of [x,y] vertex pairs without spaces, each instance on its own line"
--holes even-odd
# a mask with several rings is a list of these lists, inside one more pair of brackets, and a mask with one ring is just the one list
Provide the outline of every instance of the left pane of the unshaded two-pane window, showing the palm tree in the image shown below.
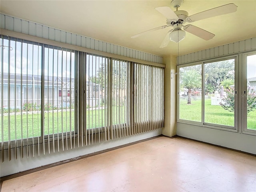
[[180,68],[179,118],[202,121],[202,65]]

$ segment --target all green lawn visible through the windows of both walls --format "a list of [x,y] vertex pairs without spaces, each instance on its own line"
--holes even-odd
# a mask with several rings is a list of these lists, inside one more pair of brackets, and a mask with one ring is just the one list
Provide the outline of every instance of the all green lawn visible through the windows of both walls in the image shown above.
[[[192,100],[191,105],[187,104],[186,99],[180,100],[180,119],[201,122],[201,113],[201,100]],[[114,107],[112,114],[113,124],[122,124],[126,122],[125,107]],[[104,127],[104,116],[105,110],[87,110],[87,129]],[[0,125],[2,124],[1,121],[2,119],[0,118]],[[8,141],[9,126],[10,140],[40,136],[40,122],[40,112],[34,112],[34,114],[22,114],[22,122],[21,115],[11,115],[10,121],[8,121],[8,116],[3,116],[4,141]],[[234,126],[234,113],[224,110],[224,108],[222,108],[221,106],[212,106],[211,100],[207,99],[205,100],[205,122],[212,124]],[[256,111],[252,111],[247,115],[247,127],[248,129],[256,130]],[[44,135],[50,135],[52,133],[70,132],[74,131],[74,128],[74,111],[72,111],[71,114],[69,110],[63,110],[63,112],[54,113],[46,111],[46,113],[44,114]],[[2,131],[0,132],[0,142],[2,142]]]

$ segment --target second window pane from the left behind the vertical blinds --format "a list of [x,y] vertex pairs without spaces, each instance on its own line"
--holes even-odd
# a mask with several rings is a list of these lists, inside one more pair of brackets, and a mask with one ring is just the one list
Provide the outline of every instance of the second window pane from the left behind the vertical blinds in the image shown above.
[[[75,131],[75,52],[64,48],[44,45],[42,86],[44,87],[43,132],[50,146],[51,138],[57,137],[58,150],[69,145]],[[70,92],[71,90],[71,92]],[[71,94],[70,94],[71,93]],[[42,127],[40,125],[40,127]],[[53,148],[54,148],[53,143]]]

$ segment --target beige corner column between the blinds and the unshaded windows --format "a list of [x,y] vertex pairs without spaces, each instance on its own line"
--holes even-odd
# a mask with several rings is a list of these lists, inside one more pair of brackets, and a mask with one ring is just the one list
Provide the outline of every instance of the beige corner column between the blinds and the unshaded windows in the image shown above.
[[165,56],[163,58],[166,68],[164,69],[164,128],[162,134],[166,136],[176,135],[176,93],[177,75],[171,79],[171,72],[175,73],[176,57]]

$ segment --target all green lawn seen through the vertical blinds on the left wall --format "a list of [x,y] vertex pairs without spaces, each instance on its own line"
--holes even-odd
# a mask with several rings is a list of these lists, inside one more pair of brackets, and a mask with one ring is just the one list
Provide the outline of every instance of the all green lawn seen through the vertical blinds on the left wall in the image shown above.
[[[90,109],[87,110],[87,124],[86,128],[98,128],[105,126],[104,118],[105,110]],[[113,124],[121,124],[125,122],[125,107],[113,108]],[[120,116],[120,119],[119,119]],[[70,122],[71,119],[71,122]],[[0,125],[1,125],[0,118]],[[22,121],[22,122],[21,122]],[[9,123],[10,122],[10,123]],[[16,123],[15,123],[16,122]],[[21,138],[32,138],[41,136],[41,112],[35,111],[34,114],[17,114],[3,117],[4,125],[4,141],[8,141],[8,135],[10,140],[16,140]],[[10,134],[8,134],[8,128],[10,126]],[[70,132],[75,130],[74,111],[63,110],[62,112],[46,111],[44,113],[44,135],[51,135],[62,132]],[[15,135],[16,132],[16,135]],[[2,142],[2,131],[0,132],[0,142]]]

